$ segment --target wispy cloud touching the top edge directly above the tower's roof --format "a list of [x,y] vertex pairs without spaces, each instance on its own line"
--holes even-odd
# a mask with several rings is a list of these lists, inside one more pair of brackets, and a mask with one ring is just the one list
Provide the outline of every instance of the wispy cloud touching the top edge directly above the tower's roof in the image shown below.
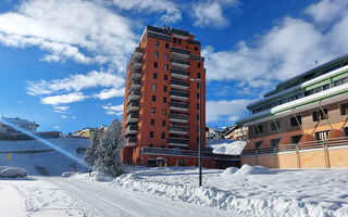
[[182,20],[178,5],[170,0],[113,0],[113,3],[123,10],[164,13],[161,16],[161,21],[165,23],[175,23]]

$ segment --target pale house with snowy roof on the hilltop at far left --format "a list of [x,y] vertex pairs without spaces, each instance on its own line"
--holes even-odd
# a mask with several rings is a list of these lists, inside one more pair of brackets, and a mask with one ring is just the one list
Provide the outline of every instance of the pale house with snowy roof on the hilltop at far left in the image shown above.
[[[3,122],[0,122],[0,133],[22,133],[22,131],[13,128],[10,125],[14,125],[29,132],[36,132],[37,128],[39,127],[39,125],[35,122],[28,122],[18,117],[2,117],[2,120]],[[5,123],[9,123],[10,125],[7,125]]]

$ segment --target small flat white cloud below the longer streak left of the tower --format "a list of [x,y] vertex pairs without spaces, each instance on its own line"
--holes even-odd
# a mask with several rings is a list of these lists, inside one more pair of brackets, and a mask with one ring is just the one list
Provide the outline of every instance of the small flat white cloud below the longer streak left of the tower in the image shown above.
[[42,98],[41,103],[51,104],[51,105],[67,104],[67,103],[84,101],[88,97],[84,95],[82,92],[72,92],[69,94],[60,94],[60,95],[51,95],[51,97]]

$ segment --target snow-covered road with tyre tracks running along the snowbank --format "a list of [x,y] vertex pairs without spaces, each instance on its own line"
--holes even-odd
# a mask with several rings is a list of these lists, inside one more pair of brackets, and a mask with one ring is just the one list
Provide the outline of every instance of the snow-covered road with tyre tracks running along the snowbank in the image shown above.
[[96,216],[238,216],[212,207],[172,201],[142,192],[115,189],[108,183],[84,179],[45,178],[87,206]]

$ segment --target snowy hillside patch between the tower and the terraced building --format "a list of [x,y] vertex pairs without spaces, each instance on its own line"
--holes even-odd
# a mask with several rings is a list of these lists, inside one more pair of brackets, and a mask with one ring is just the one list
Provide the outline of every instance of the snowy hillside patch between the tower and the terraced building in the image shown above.
[[211,139],[207,140],[206,145],[213,149],[215,154],[240,155],[244,148],[247,145],[246,141],[234,141],[229,139]]

